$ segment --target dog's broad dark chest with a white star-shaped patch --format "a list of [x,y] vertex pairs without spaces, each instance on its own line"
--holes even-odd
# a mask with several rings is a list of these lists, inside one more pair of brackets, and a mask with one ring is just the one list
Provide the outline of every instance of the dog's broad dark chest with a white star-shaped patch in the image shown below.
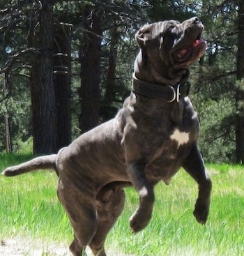
[[[190,100],[172,108],[151,107],[133,112],[125,140],[130,159],[146,162],[148,180],[169,183],[188,156],[190,147],[197,142],[199,123]],[[136,108],[135,108],[136,110]],[[126,144],[126,143],[125,143]],[[126,158],[126,157],[125,157]]]

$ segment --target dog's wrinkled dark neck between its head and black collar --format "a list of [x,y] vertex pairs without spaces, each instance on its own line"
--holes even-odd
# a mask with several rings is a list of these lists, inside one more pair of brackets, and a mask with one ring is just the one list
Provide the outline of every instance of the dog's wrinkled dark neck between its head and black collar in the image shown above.
[[188,82],[190,71],[188,68],[168,67],[163,61],[153,65],[150,59],[139,52],[135,61],[134,74],[137,79],[144,82],[176,86],[182,82]]

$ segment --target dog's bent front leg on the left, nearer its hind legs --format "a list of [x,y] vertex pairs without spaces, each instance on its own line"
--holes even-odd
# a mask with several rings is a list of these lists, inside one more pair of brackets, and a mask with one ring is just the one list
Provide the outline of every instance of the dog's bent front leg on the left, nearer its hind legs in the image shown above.
[[154,191],[148,183],[145,174],[145,164],[139,162],[127,163],[128,176],[132,185],[139,193],[139,206],[130,218],[130,227],[138,232],[148,225],[153,211]]

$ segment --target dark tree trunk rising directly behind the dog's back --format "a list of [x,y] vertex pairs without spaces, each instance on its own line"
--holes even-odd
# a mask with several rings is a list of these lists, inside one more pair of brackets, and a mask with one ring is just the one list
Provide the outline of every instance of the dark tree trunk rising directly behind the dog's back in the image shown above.
[[80,50],[81,82],[79,97],[81,114],[79,127],[82,133],[99,123],[100,76],[101,76],[101,14],[90,10],[84,22],[85,32],[82,36]]

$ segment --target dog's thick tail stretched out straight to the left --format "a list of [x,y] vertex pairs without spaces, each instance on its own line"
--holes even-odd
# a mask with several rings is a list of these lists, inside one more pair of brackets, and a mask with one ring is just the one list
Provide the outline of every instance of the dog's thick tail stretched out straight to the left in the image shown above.
[[[33,158],[26,163],[22,163],[20,165],[15,165],[13,167],[8,167],[6,170],[3,170],[1,173],[4,176],[16,176],[20,174],[24,174],[26,172],[33,172],[36,170],[47,170],[51,169],[58,174],[56,170],[56,154],[49,156],[39,156],[37,158]],[[59,174],[58,174],[59,175]]]

